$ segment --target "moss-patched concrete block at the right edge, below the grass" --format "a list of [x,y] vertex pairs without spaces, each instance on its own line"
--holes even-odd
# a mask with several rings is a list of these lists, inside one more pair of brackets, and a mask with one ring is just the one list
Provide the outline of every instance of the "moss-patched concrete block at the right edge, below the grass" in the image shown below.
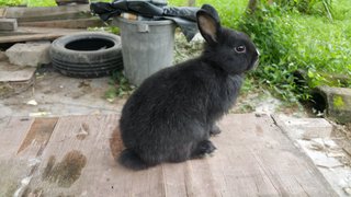
[[316,89],[314,96],[317,94],[326,104],[328,118],[340,124],[351,123],[351,89],[324,85]]

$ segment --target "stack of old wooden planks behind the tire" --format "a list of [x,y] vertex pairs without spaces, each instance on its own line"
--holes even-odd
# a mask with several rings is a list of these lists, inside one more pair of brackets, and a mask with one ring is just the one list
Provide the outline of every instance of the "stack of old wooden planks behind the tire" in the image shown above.
[[[0,44],[26,40],[53,40],[77,28],[102,26],[82,0],[58,0],[58,7],[0,8]],[[61,4],[61,5],[60,5]]]

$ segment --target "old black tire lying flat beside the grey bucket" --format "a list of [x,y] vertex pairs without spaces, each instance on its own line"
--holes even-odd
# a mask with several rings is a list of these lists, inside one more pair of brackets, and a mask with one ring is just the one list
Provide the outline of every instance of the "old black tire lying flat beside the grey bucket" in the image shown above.
[[52,44],[53,67],[75,78],[99,78],[123,69],[122,44],[117,35],[79,33],[60,37]]

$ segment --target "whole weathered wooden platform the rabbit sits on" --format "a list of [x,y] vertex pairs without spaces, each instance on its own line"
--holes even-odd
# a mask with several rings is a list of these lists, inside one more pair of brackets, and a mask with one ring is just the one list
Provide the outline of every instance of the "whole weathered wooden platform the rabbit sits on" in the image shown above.
[[337,196],[270,116],[228,115],[213,157],[141,172],[114,161],[117,119],[1,119],[0,196]]

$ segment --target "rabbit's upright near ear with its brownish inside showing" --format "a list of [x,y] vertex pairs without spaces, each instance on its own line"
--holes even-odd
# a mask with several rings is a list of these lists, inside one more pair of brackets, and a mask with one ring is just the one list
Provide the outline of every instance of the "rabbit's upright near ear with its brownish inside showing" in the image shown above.
[[197,11],[196,18],[201,35],[210,45],[216,44],[222,30],[216,10],[213,7],[205,4]]

